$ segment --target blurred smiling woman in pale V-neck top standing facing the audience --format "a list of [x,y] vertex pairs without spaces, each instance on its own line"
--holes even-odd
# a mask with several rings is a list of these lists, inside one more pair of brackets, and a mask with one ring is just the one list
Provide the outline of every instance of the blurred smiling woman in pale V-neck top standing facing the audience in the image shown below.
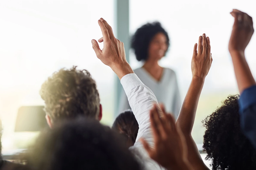
[[[136,59],[144,62],[141,68],[134,70],[134,73],[153,91],[158,102],[163,103],[166,110],[173,113],[177,119],[181,99],[176,74],[173,70],[158,64],[170,46],[168,33],[159,22],[147,23],[136,30],[131,41]],[[119,112],[126,109],[130,109],[130,105],[125,92],[122,91]]]

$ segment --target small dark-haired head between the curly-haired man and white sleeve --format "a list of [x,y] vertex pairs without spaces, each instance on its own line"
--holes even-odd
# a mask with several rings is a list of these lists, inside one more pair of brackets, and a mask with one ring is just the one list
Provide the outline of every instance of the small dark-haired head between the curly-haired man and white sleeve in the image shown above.
[[136,141],[139,124],[133,115],[133,112],[131,110],[126,110],[117,116],[112,125],[112,129],[119,134],[122,134],[126,141],[126,145],[130,147],[133,146]]

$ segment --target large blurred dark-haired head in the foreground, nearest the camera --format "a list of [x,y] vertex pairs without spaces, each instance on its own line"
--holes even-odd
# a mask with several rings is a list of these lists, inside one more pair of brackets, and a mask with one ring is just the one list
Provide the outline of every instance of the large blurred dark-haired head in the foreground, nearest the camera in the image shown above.
[[29,166],[40,170],[138,170],[120,135],[93,119],[56,123],[31,148]]

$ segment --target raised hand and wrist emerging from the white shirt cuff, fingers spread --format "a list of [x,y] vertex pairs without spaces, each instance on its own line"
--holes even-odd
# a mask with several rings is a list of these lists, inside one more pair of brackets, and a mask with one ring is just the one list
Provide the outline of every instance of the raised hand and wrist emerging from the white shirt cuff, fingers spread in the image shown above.
[[110,66],[119,79],[126,74],[133,73],[133,70],[126,61],[123,42],[115,38],[111,26],[103,18],[98,20],[98,24],[103,35],[99,42],[104,40],[104,47],[101,50],[98,42],[95,39],[92,40],[92,48],[97,57],[102,63]]

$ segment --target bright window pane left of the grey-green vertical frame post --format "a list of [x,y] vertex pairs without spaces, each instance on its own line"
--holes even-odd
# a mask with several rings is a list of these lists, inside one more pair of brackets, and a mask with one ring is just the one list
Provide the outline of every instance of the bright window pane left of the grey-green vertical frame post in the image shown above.
[[4,152],[24,148],[33,141],[34,133],[14,133],[18,108],[44,105],[39,95],[41,85],[63,67],[75,65],[92,74],[103,106],[102,122],[112,123],[115,76],[96,57],[91,45],[91,39],[102,36],[97,22],[100,17],[114,28],[114,0],[1,2],[0,117]]

